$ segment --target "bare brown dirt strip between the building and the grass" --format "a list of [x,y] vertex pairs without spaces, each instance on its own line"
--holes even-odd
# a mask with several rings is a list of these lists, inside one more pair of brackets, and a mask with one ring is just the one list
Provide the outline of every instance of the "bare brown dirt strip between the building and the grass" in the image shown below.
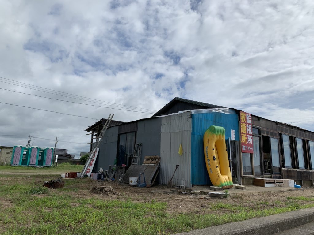
[[[120,193],[118,195],[94,195],[93,197],[109,199],[109,200],[132,200],[135,202],[165,202],[167,203],[166,212],[169,213],[184,213],[193,212],[196,214],[206,214],[209,211],[215,211],[218,213],[224,210],[234,210],[235,212],[239,209],[239,206],[250,209],[268,209],[276,207],[284,207],[288,202],[287,197],[313,197],[314,200],[314,188],[307,187],[295,190],[283,191],[260,191],[260,192],[247,192],[247,193],[232,193],[227,198],[216,198],[209,197],[208,195],[191,195],[182,194],[181,192],[173,192],[166,186],[157,185],[151,188],[138,188],[129,185],[116,185],[110,184],[112,188]],[[213,191],[214,192],[214,191]],[[81,191],[77,194],[78,197],[91,197],[89,191]],[[206,196],[206,197],[204,197]],[[217,209],[217,204],[229,204],[230,208]],[[300,205],[313,204],[314,201],[298,201]],[[219,205],[219,204],[218,204]],[[237,208],[238,207],[238,208]]]

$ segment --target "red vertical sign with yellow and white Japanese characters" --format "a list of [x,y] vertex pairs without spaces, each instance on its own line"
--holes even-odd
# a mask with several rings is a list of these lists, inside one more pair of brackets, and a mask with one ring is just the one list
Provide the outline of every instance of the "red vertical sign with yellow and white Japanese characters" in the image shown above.
[[252,115],[240,111],[241,152],[253,153]]

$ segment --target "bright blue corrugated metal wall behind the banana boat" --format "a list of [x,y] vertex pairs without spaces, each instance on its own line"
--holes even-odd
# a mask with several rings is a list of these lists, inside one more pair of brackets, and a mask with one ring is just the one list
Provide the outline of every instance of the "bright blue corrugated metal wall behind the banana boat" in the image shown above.
[[233,110],[224,112],[192,113],[192,161],[191,183],[193,185],[211,184],[205,165],[203,135],[211,125],[224,127],[226,139],[231,138],[231,129],[236,131],[236,140],[239,141],[238,115]]

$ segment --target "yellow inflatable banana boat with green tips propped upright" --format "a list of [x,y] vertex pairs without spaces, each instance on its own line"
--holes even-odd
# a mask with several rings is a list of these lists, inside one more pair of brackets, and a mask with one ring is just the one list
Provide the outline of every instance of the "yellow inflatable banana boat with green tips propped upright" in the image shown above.
[[225,142],[225,128],[210,126],[204,134],[204,155],[210,181],[214,186],[233,186]]

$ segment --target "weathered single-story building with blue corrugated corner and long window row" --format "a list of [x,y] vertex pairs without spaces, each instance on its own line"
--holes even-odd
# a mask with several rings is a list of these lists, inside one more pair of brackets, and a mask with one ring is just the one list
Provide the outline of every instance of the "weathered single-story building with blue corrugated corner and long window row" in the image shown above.
[[[150,118],[112,124],[101,140],[94,172],[100,167],[108,170],[108,165],[130,166],[135,144],[142,143],[139,162],[144,156],[160,156],[160,184],[167,184],[176,165],[180,165],[174,184],[210,185],[203,135],[211,125],[225,128],[234,183],[253,184],[254,178],[263,177],[313,185],[314,132],[177,97]],[[178,154],[180,145],[182,155]]]

